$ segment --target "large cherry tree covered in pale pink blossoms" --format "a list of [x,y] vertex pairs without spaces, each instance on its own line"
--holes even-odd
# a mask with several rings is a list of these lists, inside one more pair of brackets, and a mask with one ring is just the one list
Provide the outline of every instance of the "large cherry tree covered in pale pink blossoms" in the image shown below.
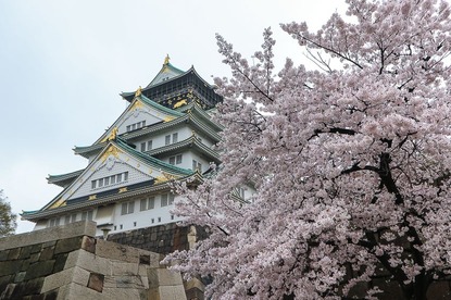
[[271,29],[254,64],[217,36],[223,164],[176,205],[209,238],[165,259],[208,297],[426,299],[451,274],[450,7],[346,2],[281,25],[316,70],[276,73]]

